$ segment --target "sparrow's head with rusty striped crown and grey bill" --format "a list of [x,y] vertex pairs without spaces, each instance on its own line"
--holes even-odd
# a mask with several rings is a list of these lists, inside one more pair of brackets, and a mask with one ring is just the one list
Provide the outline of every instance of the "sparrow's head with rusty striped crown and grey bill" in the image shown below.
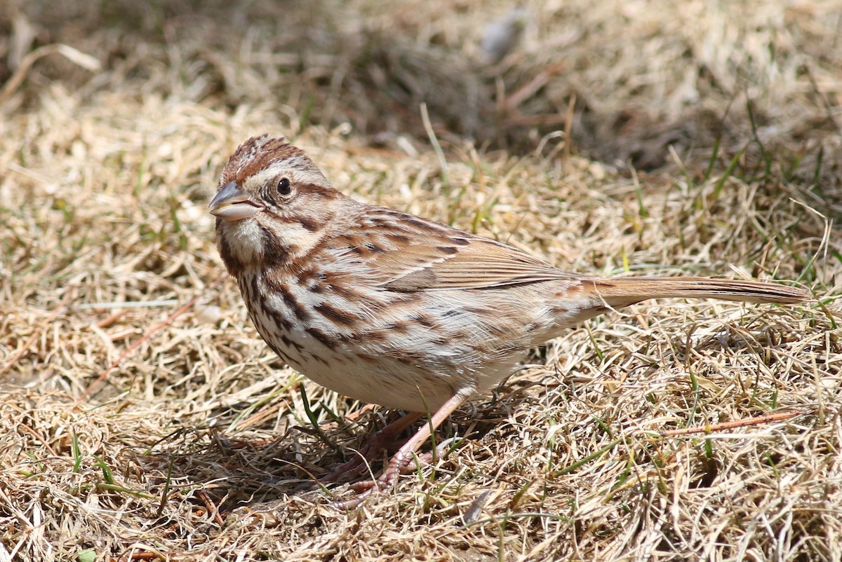
[[303,255],[316,246],[344,197],[304,151],[270,135],[246,140],[222,169],[210,213],[232,274]]

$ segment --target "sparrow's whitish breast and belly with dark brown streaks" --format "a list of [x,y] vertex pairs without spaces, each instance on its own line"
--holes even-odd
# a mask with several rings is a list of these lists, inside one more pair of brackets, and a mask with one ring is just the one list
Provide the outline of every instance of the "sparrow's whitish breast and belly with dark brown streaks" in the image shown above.
[[478,306],[472,311],[442,292],[382,291],[361,305],[300,284],[280,292],[241,284],[247,304],[256,302],[246,295],[254,289],[273,296],[250,306],[249,315],[290,367],[339,394],[389,408],[434,412],[457,392],[489,390],[525,355],[519,338],[505,333],[504,319],[489,323]]

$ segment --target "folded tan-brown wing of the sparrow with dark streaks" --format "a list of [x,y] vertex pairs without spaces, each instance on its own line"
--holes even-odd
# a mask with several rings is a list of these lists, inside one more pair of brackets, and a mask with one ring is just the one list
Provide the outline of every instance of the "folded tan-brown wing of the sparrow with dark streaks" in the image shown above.
[[572,274],[497,241],[393,209],[369,208],[365,241],[334,236],[329,247],[365,262],[393,291],[491,289]]

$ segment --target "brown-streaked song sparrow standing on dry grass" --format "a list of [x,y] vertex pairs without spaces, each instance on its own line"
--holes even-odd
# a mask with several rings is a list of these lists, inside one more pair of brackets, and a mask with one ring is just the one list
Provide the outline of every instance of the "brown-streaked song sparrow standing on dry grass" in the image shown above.
[[562,271],[500,242],[349,199],[303,151],[269,135],[237,148],[210,212],[222,261],[274,353],[343,395],[415,412],[386,432],[432,412],[344,507],[392,485],[452,411],[569,326],[662,297],[806,298],[755,281]]

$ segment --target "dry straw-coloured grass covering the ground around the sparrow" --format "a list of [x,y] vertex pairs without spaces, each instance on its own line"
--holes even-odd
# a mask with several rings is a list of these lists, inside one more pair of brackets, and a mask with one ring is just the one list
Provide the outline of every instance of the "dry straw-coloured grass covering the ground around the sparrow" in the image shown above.
[[[0,8],[0,561],[842,558],[839,3],[527,2],[496,65],[502,2],[23,4]],[[285,368],[226,278],[206,203],[263,132],[565,268],[817,298],[590,321],[338,512],[313,477],[393,414]]]

